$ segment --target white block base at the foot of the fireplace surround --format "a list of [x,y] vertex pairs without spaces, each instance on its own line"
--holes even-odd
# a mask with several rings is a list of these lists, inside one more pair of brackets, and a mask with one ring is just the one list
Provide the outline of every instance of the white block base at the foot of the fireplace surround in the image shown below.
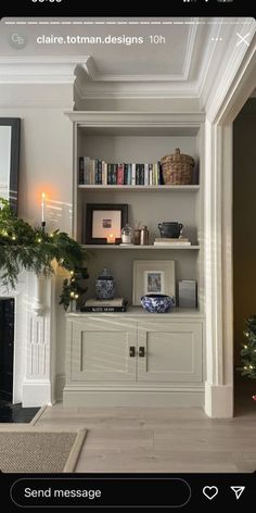
[[52,386],[49,381],[26,381],[23,384],[23,408],[52,405]]

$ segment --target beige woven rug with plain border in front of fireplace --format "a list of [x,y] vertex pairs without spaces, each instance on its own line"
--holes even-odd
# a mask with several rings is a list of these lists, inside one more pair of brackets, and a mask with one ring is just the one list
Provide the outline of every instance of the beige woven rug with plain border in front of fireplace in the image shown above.
[[78,433],[1,430],[0,471],[8,473],[74,472],[86,438]]

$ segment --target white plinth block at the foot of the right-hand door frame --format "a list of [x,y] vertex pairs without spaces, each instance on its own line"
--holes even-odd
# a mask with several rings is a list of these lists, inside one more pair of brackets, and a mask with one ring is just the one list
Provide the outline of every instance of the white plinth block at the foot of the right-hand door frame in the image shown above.
[[233,385],[205,383],[205,413],[212,418],[233,416]]

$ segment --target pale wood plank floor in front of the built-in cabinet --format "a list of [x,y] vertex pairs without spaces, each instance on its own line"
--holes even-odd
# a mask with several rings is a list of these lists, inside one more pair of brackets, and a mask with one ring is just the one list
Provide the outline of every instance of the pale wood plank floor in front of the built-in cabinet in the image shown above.
[[[248,401],[247,401],[248,402]],[[256,470],[256,404],[231,420],[201,409],[47,408],[37,426],[88,435],[76,472],[238,473]]]

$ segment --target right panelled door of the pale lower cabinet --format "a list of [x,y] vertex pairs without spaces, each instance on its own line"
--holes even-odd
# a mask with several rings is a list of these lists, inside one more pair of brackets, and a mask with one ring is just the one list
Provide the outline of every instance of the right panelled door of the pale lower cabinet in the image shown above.
[[202,381],[202,323],[139,324],[138,381]]

